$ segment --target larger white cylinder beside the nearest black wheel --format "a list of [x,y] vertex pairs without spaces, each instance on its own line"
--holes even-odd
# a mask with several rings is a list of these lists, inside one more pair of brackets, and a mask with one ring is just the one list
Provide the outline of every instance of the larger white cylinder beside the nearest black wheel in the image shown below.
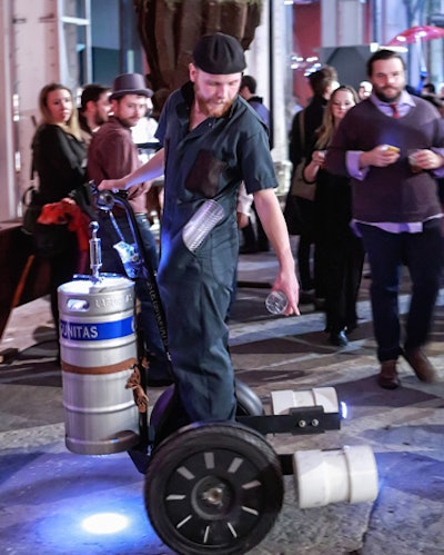
[[299,506],[362,503],[377,496],[377,467],[371,447],[305,450],[293,455]]

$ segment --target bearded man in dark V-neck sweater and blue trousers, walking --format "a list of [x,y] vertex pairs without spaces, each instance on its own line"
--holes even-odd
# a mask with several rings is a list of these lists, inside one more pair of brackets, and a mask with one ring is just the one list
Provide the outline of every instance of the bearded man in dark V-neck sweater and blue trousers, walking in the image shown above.
[[[372,272],[377,384],[395,389],[400,355],[418,379],[437,380],[423,346],[443,279],[443,214],[435,178],[444,175],[444,120],[430,102],[405,91],[400,54],[375,52],[367,75],[373,93],[341,122],[326,169],[352,177],[354,224]],[[397,295],[403,265],[411,275],[412,299],[402,341]]]

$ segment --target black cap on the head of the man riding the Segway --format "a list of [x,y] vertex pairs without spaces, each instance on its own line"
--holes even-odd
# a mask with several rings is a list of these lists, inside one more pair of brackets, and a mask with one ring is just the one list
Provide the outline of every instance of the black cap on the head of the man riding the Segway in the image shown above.
[[216,32],[199,39],[193,50],[194,65],[214,76],[240,73],[245,67],[245,54],[239,40]]

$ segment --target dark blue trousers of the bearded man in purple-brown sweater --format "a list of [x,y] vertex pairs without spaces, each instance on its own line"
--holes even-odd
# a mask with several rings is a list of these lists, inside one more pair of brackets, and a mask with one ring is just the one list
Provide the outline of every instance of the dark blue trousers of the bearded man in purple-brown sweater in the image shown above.
[[405,325],[404,349],[423,346],[443,278],[444,238],[440,218],[424,222],[418,234],[390,234],[357,224],[372,272],[373,328],[380,361],[396,360],[402,353],[398,290],[402,268],[408,268],[412,298]]

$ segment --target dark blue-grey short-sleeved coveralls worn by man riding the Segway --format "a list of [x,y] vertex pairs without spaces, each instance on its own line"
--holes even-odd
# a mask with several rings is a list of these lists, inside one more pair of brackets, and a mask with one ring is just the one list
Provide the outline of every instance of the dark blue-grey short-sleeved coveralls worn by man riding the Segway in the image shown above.
[[[191,82],[173,92],[157,137],[165,148],[159,288],[179,398],[191,422],[232,419],[234,371],[226,315],[236,271],[236,195],[276,187],[266,128],[240,97],[228,116],[209,118],[189,130]],[[182,229],[205,199],[224,217],[191,252]]]

